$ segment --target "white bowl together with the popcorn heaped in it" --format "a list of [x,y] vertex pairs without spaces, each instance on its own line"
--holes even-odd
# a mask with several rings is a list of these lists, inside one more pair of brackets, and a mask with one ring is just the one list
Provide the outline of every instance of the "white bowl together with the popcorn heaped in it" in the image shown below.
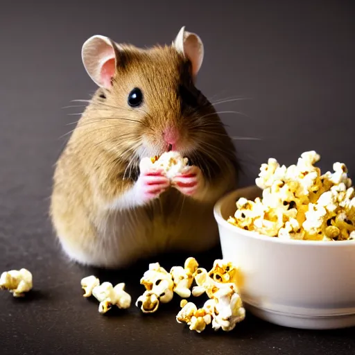
[[345,164],[321,173],[319,160],[315,151],[288,167],[270,158],[256,186],[214,208],[245,308],[286,327],[355,326],[355,191]]

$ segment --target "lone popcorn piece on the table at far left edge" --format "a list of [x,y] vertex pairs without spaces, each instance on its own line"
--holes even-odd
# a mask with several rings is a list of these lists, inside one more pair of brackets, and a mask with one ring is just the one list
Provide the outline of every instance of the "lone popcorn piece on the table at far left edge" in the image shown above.
[[32,273],[25,268],[5,271],[0,276],[0,290],[8,290],[14,297],[24,297],[32,288]]

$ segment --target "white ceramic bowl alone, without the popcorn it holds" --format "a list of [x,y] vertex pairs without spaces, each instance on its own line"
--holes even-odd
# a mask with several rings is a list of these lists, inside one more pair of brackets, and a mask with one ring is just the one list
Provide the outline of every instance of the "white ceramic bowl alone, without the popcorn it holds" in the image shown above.
[[282,240],[227,223],[238,198],[257,196],[257,187],[239,189],[214,207],[223,258],[243,274],[245,307],[285,327],[355,326],[355,241]]

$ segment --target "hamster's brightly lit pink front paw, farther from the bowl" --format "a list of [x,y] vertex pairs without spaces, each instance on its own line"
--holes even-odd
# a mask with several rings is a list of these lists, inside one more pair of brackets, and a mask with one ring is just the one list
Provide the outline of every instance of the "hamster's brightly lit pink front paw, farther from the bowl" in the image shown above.
[[166,178],[164,171],[147,169],[139,175],[137,180],[138,196],[143,202],[148,202],[157,198],[169,186],[170,181]]

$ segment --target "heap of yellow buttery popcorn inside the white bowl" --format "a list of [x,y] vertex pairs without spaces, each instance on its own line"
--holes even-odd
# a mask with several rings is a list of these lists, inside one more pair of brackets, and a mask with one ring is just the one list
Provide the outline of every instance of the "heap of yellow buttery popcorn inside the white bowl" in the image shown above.
[[314,166],[320,155],[304,152],[296,165],[280,166],[276,159],[261,164],[255,180],[263,190],[254,201],[239,198],[227,222],[281,239],[343,241],[354,239],[355,192],[343,163],[321,175]]

